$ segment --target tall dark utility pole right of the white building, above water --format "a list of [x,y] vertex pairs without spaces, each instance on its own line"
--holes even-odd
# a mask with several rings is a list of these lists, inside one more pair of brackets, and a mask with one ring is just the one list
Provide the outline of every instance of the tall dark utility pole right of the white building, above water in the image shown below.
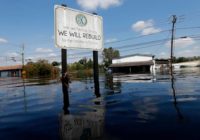
[[170,58],[170,67],[172,69],[172,63],[173,63],[173,51],[174,51],[174,26],[177,20],[176,15],[172,16],[172,37],[171,37],[171,58]]

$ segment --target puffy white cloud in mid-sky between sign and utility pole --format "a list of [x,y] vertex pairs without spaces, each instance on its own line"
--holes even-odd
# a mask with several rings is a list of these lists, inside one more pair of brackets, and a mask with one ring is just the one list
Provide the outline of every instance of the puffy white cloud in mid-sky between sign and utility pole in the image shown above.
[[149,35],[161,31],[160,28],[154,27],[154,21],[152,19],[146,21],[137,21],[136,23],[132,24],[132,30],[140,32],[142,35]]

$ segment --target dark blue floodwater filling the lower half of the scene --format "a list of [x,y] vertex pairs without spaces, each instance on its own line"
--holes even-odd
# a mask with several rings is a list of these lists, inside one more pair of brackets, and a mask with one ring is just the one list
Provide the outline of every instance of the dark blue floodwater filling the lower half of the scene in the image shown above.
[[199,140],[200,69],[173,77],[101,75],[101,97],[92,78],[0,78],[0,140]]

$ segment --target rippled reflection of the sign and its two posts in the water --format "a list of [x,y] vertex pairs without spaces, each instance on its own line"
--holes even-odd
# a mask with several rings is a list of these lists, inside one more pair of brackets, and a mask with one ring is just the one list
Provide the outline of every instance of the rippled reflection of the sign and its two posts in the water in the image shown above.
[[68,87],[63,87],[63,112],[59,115],[60,137],[62,140],[101,139],[104,128],[104,106],[100,94],[95,93],[93,111],[72,114],[69,111]]

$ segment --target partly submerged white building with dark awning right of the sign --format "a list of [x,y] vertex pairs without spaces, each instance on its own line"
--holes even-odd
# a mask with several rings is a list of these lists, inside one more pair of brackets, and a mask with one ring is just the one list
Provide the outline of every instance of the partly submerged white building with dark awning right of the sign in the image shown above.
[[113,73],[150,73],[155,65],[154,55],[133,54],[113,59]]

